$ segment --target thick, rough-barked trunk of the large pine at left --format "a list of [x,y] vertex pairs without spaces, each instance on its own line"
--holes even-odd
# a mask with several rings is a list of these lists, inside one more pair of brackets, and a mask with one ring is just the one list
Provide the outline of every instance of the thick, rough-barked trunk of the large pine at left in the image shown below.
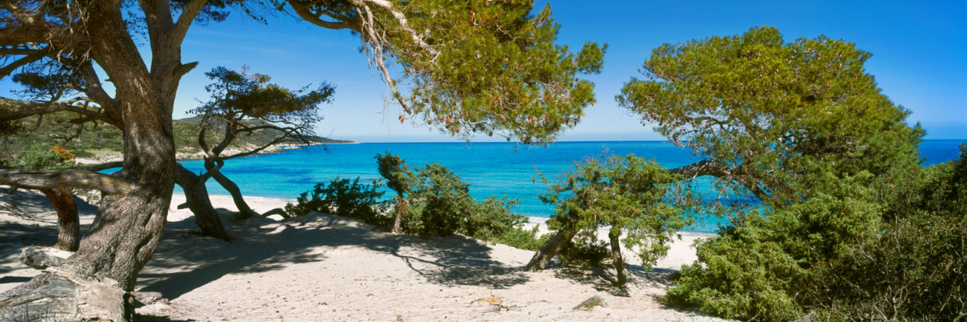
[[[171,115],[177,89],[174,68],[181,61],[180,40],[173,40],[170,28],[159,21],[166,17],[170,23],[170,7],[140,4],[152,9],[145,13],[152,44],[150,71],[128,33],[120,2],[84,3],[85,21],[92,21],[86,24],[90,53],[115,87],[114,98],[100,103],[123,122],[124,170],[111,175],[130,185],[104,198],[67,264],[48,267],[31,282],[0,294],[0,309],[47,305],[58,319],[132,318],[128,292],[158,250],[174,188]],[[21,257],[25,263],[30,258]]]

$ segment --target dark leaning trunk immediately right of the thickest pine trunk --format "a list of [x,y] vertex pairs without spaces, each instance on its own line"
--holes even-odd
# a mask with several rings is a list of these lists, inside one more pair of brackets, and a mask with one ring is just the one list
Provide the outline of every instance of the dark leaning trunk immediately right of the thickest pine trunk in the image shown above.
[[175,183],[185,190],[185,201],[194,214],[194,224],[201,228],[201,234],[224,241],[231,241],[225,228],[221,226],[219,213],[208,199],[203,177],[191,173],[181,164],[176,166]]

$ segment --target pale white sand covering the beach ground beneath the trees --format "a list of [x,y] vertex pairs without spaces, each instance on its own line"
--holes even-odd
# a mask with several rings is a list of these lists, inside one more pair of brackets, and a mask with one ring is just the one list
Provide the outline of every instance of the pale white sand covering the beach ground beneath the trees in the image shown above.
[[[247,201],[258,212],[285,203]],[[533,252],[459,236],[397,235],[322,214],[235,224],[228,220],[235,210],[231,199],[213,196],[235,237],[226,243],[193,233],[190,211],[175,209],[181,202],[184,196],[175,195],[161,248],[138,280],[139,290],[161,292],[170,303],[138,309],[139,314],[199,321],[714,320],[665,308],[656,299],[670,287],[668,275],[695,259],[689,246],[698,234],[684,234],[651,272],[626,252],[625,291],[610,285],[610,268],[524,272]],[[56,235],[49,205],[44,212],[37,198],[12,203],[42,220],[15,223],[0,210],[0,228],[45,230],[37,230],[44,232],[38,240],[20,240],[0,229],[0,292],[38,273],[16,261],[24,242],[49,243]],[[91,218],[87,214],[82,223]],[[572,310],[596,295],[606,308]]]

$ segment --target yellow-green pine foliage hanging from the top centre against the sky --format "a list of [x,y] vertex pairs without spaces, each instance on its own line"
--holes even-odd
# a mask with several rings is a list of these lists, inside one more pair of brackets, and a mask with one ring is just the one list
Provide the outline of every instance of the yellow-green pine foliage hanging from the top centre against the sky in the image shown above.
[[[400,121],[414,116],[453,135],[547,143],[595,101],[594,84],[579,76],[601,71],[606,46],[587,42],[575,54],[555,44],[560,25],[549,6],[530,15],[530,0],[393,3],[426,40],[398,28],[392,13],[375,13],[392,21],[377,26],[390,42],[378,46],[413,84],[412,95],[400,97],[408,105]],[[357,16],[351,7],[327,7]]]

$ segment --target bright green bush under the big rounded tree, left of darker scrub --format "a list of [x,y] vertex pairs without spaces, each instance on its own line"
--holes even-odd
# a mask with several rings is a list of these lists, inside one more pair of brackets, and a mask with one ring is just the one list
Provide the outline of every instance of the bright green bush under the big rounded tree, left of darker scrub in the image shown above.
[[[727,318],[788,320],[822,300],[817,274],[850,245],[874,238],[882,207],[870,201],[871,175],[826,174],[808,201],[762,216],[753,211],[697,247],[665,300]],[[763,209],[762,211],[769,211]]]

